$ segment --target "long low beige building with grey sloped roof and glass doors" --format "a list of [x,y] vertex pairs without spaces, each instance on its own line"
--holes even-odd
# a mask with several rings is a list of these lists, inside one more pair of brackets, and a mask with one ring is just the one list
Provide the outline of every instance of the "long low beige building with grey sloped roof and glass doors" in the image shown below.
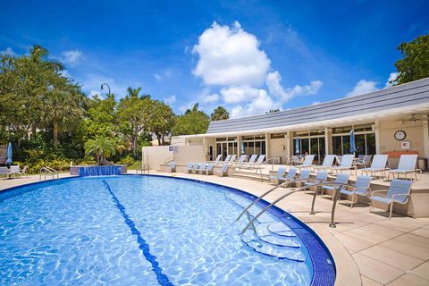
[[172,145],[200,145],[207,159],[264,154],[284,164],[307,153],[321,162],[325,154],[349,154],[353,129],[357,155],[389,154],[393,166],[400,154],[429,158],[428,114],[426,78],[318,105],[210,122],[206,134],[173,137]]

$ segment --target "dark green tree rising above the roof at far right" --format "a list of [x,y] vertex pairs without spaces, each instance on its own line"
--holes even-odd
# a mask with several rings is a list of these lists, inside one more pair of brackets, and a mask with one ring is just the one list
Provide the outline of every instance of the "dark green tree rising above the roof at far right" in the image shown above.
[[403,58],[394,63],[398,76],[391,83],[403,84],[429,77],[429,35],[402,43],[398,49]]

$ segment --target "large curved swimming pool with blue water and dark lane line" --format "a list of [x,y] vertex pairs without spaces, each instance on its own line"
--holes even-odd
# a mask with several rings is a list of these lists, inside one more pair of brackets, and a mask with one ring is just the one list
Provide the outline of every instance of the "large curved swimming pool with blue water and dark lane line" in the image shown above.
[[[0,193],[1,285],[332,285],[323,243],[254,197],[200,181],[112,176]],[[261,202],[250,214],[266,206]]]

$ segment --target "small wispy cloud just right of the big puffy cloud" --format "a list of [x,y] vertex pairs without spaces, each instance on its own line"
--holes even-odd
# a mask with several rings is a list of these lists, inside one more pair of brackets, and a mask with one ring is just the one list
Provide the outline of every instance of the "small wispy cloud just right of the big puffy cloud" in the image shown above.
[[281,97],[283,103],[289,101],[292,97],[315,95],[323,86],[322,81],[313,80],[310,82],[310,85],[306,85],[303,87],[296,85],[293,88],[287,88],[285,90],[284,88],[282,88],[280,80],[282,80],[280,72],[273,71],[268,73],[265,82],[270,93],[274,96]]

